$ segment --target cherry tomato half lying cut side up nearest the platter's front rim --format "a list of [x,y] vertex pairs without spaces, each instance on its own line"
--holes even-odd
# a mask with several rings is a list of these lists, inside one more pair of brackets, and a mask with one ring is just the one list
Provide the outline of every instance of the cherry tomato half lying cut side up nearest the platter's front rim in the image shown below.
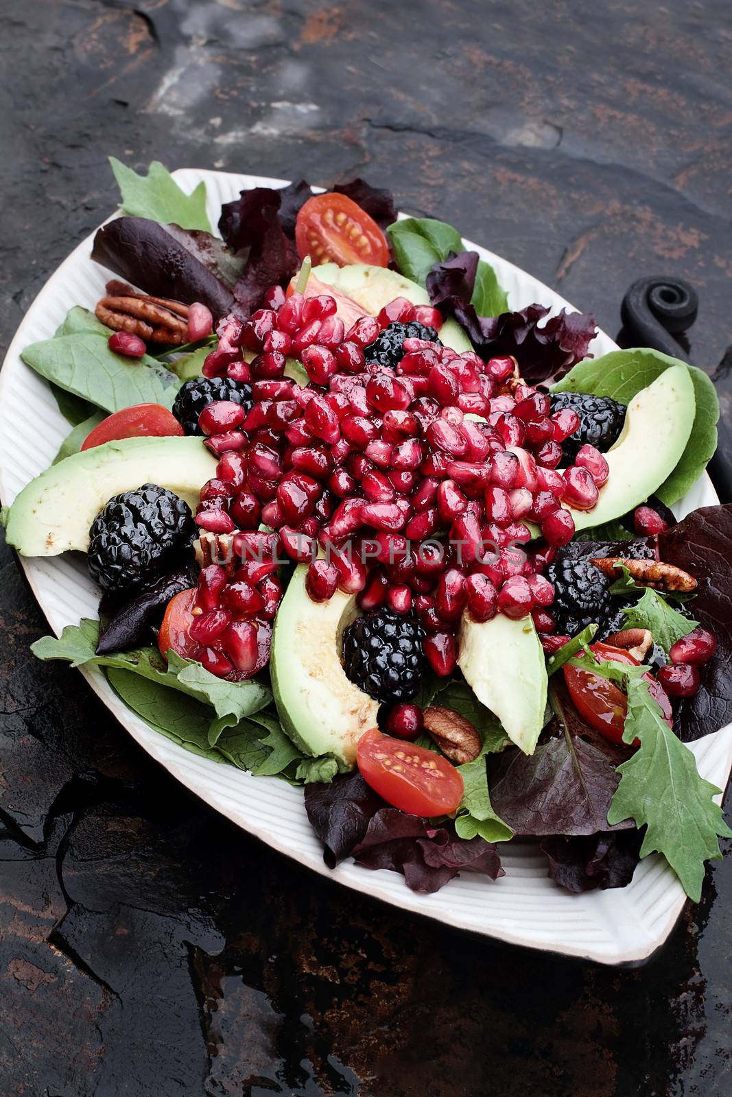
[[449,815],[462,800],[463,779],[447,758],[375,727],[359,739],[356,761],[374,792],[410,815]]

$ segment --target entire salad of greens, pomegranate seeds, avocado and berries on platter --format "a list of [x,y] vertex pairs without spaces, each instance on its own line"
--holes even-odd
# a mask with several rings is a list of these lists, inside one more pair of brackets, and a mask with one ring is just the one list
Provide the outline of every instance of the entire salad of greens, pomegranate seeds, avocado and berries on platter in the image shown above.
[[112,168],[115,278],[22,353],[71,429],[8,539],[103,591],[35,655],[303,784],[331,867],[430,892],[519,835],[570,891],[658,851],[698,900],[731,836],[685,744],[732,720],[732,508],[668,507],[714,452],[708,376],[509,310],[363,180],[243,191],[216,237],[203,183]]

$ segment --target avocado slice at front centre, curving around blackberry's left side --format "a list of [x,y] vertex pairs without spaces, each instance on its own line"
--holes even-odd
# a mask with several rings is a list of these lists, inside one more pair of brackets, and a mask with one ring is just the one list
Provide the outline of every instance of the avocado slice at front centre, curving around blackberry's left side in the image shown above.
[[376,726],[379,702],[349,681],[340,663],[344,630],[358,615],[356,599],[337,590],[314,602],[300,564],[274,619],[270,674],[285,732],[308,755],[334,754],[352,767],[356,744]]

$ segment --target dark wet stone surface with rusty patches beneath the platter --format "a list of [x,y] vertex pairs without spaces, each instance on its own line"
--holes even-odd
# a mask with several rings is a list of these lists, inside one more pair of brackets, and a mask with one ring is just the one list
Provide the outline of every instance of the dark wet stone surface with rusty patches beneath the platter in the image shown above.
[[[730,30],[727,0],[5,0],[3,342],[112,211],[114,154],[364,173],[611,335],[635,278],[686,276],[713,370],[732,342]],[[7,550],[0,607],[3,1097],[729,1092],[728,866],[632,971],[415,920],[237,830],[78,674],[36,665],[45,622]]]

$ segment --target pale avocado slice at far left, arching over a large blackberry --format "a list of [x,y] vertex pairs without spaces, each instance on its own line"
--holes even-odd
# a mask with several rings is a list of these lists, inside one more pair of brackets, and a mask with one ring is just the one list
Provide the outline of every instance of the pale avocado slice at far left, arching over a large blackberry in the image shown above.
[[3,510],[9,544],[21,556],[86,552],[89,529],[113,495],[155,483],[192,510],[216,459],[200,438],[125,438],[75,453],[31,480]]

